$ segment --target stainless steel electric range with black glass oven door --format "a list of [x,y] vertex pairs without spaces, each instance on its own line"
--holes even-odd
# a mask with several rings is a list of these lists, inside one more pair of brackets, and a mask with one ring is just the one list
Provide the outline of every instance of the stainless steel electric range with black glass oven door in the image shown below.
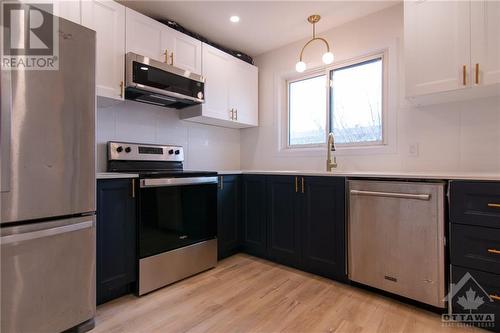
[[181,146],[108,142],[108,171],[139,174],[138,295],[217,263],[217,172],[183,162]]

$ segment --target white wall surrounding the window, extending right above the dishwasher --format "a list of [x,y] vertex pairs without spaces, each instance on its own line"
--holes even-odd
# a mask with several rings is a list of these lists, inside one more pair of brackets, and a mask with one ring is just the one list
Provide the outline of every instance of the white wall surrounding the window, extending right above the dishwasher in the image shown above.
[[[304,23],[306,24],[306,23]],[[319,23],[321,24],[321,22]],[[403,6],[339,26],[322,34],[336,61],[370,51],[388,51],[389,144],[378,151],[339,149],[345,171],[500,171],[500,100],[489,98],[415,108],[404,99]],[[306,40],[256,58],[259,67],[259,127],[241,131],[243,169],[324,170],[326,150],[287,153],[280,150],[285,80],[294,74]],[[309,66],[321,66],[323,45],[305,52]],[[418,156],[410,145],[418,145]]]

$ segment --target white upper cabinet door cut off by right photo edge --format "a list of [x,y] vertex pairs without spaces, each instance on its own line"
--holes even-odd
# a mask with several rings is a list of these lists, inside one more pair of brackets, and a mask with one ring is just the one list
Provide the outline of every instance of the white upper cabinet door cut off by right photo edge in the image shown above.
[[471,44],[474,84],[500,83],[500,2],[471,2]]

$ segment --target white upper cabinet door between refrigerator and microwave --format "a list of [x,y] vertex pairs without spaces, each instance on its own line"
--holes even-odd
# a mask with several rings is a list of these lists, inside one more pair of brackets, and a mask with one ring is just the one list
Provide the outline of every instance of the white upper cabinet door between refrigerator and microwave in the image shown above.
[[97,95],[122,100],[125,7],[110,0],[83,1],[82,25],[96,31]]

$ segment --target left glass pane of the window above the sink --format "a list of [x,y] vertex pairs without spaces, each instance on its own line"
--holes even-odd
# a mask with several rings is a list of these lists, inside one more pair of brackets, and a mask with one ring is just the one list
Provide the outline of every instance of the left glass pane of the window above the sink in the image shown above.
[[326,75],[288,83],[288,146],[325,143]]

